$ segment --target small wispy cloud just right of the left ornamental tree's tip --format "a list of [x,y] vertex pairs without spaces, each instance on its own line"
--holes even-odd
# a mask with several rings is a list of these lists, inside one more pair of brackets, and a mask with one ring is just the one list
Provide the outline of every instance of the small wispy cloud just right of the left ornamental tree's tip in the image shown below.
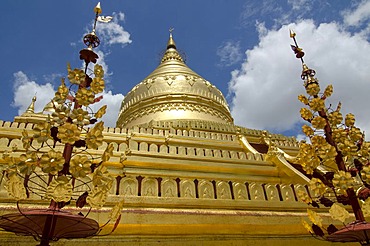
[[109,23],[98,23],[96,25],[96,32],[100,39],[107,44],[129,44],[130,33],[120,25],[119,22],[124,20],[124,14],[119,12],[118,14],[113,13],[113,20]]

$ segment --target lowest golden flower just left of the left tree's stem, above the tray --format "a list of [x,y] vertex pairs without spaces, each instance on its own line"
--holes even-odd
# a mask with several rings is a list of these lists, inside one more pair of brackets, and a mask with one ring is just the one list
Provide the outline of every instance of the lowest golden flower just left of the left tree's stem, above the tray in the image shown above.
[[46,197],[56,202],[68,202],[72,196],[72,184],[66,176],[53,179],[46,191]]

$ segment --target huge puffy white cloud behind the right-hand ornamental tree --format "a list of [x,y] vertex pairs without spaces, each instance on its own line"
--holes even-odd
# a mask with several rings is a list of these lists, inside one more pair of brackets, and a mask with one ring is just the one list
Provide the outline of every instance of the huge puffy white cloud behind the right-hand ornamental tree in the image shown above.
[[333,84],[329,102],[336,107],[340,100],[343,113],[353,112],[357,125],[370,133],[369,42],[343,31],[337,23],[315,25],[312,20],[268,30],[257,46],[247,50],[246,61],[232,72],[229,83],[236,124],[272,131],[300,124],[302,105],[297,96],[305,92],[300,61],[290,49],[289,29],[297,32],[299,45],[306,52],[305,62],[316,70],[321,87]]

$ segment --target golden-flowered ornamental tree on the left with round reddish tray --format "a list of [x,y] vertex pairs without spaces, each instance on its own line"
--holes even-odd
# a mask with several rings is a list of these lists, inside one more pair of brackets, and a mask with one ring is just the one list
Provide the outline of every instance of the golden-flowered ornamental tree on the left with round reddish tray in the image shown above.
[[[94,28],[85,35],[86,49],[80,51],[84,69],[72,69],[68,64],[68,80],[64,79],[51,100],[53,113],[32,130],[22,132],[24,154],[5,153],[8,164],[4,174],[10,197],[17,200],[19,213],[0,217],[0,227],[20,235],[33,236],[40,245],[60,238],[84,238],[98,235],[101,227],[88,218],[91,209],[100,209],[113,185],[105,163],[113,155],[113,144],[99,156],[93,154],[103,144],[107,106],[93,112],[90,105],[102,99],[104,70],[96,64],[98,55],[93,48],[100,44],[95,33],[97,21],[109,21],[101,14],[100,3],[94,8]],[[93,69],[90,64],[95,64]],[[46,209],[21,209],[21,200],[38,196],[49,201]],[[68,212],[67,205],[75,204],[78,214]],[[109,218],[117,226],[123,201],[112,209]],[[84,207],[90,207],[82,210]],[[64,209],[63,209],[64,208]],[[85,213],[85,215],[83,215]]]

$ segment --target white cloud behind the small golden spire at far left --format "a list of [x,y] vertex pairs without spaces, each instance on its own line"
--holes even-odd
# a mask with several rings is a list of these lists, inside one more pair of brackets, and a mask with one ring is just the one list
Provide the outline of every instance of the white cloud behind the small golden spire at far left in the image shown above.
[[44,106],[54,97],[54,88],[50,83],[41,85],[18,71],[14,76],[14,100],[12,106],[18,108],[18,115],[23,114],[36,95],[35,112],[41,112]]

